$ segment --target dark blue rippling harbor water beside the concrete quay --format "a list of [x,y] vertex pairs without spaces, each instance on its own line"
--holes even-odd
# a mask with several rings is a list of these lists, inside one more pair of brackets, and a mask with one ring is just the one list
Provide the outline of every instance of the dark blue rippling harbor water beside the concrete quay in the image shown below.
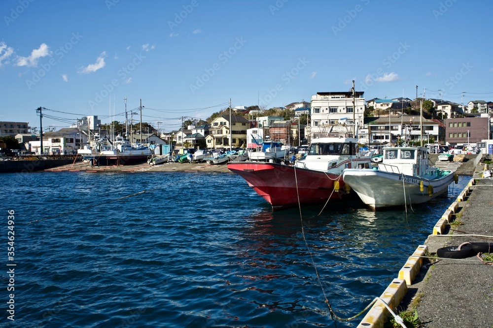
[[[233,174],[2,174],[5,327],[355,327],[470,177],[373,212],[360,201],[272,212]],[[146,191],[146,192],[142,192]],[[131,196],[130,196],[131,195]],[[129,196],[129,197],[125,197]],[[125,197],[125,198],[124,198]],[[7,264],[15,264],[8,267]],[[8,268],[15,290],[7,291]],[[5,302],[3,308],[6,308]]]

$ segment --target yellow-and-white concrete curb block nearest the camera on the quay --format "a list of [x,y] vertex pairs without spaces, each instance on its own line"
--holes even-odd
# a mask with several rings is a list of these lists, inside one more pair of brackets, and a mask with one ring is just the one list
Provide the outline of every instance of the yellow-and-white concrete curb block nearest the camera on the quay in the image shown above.
[[[406,293],[406,282],[403,279],[394,279],[380,298],[382,298],[392,311],[395,311]],[[389,313],[385,305],[380,300],[377,300],[359,323],[358,328],[383,328],[388,315]]]

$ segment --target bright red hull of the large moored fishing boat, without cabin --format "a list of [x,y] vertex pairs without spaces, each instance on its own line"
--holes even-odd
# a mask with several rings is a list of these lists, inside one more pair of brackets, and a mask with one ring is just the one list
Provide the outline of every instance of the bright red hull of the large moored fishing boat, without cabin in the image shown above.
[[[268,162],[229,162],[228,169],[245,179],[273,210],[340,200],[347,195],[341,174]],[[340,183],[338,192],[334,181]]]

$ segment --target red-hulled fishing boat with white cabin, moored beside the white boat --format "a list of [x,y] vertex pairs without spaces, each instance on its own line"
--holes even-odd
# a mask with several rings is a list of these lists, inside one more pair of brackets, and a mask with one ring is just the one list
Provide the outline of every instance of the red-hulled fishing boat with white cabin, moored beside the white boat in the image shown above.
[[[358,139],[341,134],[312,140],[303,160],[294,165],[271,162],[229,162],[228,169],[279,210],[337,201],[347,196],[342,180],[347,168],[369,168],[373,152],[358,151]],[[251,159],[251,157],[250,157]]]

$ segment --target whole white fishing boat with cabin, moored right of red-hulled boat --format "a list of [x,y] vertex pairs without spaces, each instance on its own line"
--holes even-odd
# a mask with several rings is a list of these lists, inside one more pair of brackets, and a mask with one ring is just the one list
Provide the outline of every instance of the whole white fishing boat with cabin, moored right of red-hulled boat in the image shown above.
[[346,169],[343,180],[371,209],[427,202],[448,191],[457,176],[432,165],[425,147],[386,147],[369,169]]

